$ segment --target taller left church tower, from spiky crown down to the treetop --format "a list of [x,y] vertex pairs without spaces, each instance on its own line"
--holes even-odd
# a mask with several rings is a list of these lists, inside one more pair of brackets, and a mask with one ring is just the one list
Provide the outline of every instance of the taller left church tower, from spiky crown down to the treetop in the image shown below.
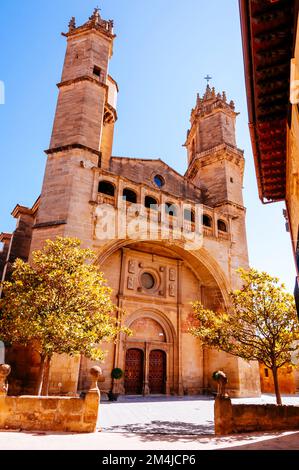
[[93,169],[109,168],[117,119],[118,87],[108,75],[113,21],[96,8],[81,26],[72,18],[63,36],[67,49],[32,249],[56,235],[90,242]]

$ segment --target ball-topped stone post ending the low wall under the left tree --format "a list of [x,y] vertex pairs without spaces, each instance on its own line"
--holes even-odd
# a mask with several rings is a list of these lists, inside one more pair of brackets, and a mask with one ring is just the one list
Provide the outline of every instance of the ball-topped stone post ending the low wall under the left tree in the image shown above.
[[98,381],[103,381],[102,369],[93,366],[90,369],[91,384],[85,396],[84,423],[87,426],[87,432],[95,432],[97,428],[98,412],[101,393],[98,388]]

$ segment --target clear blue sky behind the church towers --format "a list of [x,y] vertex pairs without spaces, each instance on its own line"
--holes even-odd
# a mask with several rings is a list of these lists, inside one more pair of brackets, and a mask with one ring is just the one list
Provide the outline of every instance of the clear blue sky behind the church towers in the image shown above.
[[[278,275],[292,291],[295,269],[283,204],[264,206],[257,194],[237,0],[102,0],[117,38],[110,74],[120,88],[113,154],[160,157],[186,169],[182,144],[196,93],[209,73],[240,111],[238,146],[245,151],[244,198],[252,266]],[[11,231],[11,210],[40,193],[57,88],[71,16],[90,16],[96,0],[11,0],[0,5],[0,231]]]

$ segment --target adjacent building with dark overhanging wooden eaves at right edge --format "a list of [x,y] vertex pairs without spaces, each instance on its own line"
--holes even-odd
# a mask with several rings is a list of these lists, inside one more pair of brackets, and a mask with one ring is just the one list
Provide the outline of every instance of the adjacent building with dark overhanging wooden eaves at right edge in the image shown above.
[[298,0],[239,0],[249,129],[264,204],[285,201],[299,313]]

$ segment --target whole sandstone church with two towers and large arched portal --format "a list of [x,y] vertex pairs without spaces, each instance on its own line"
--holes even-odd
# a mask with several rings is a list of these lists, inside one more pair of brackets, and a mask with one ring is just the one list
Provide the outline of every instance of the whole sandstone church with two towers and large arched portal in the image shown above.
[[[120,320],[133,331],[102,345],[104,390],[204,393],[214,387],[212,373],[223,369],[232,395],[259,395],[257,363],[202,347],[188,333],[191,302],[229,309],[228,293],[239,286],[235,271],[248,267],[234,103],[209,85],[197,96],[183,176],[160,159],[112,156],[118,92],[108,74],[113,22],[95,10],[82,26],[73,18],[65,37],[41,196],[32,208],[15,207],[16,229],[0,238],[0,274],[5,278],[16,257],[30,259],[46,239],[78,237],[97,252],[113,301],[125,312]],[[8,352],[16,369],[22,366],[18,390],[30,393],[38,358],[22,354]],[[54,357],[51,393],[86,389],[89,366],[84,357]],[[125,377],[113,383],[114,367]]]

